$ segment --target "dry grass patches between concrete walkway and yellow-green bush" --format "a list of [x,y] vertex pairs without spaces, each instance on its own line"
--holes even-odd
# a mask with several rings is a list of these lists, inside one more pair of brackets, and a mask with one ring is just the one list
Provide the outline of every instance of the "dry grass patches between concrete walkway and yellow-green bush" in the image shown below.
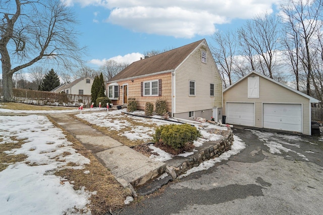
[[127,115],[124,115],[124,118],[120,118],[120,117],[117,118],[117,117],[109,116],[109,119],[111,121],[124,119],[124,120],[127,120],[127,122],[131,124],[130,126],[128,126],[126,128],[122,128],[120,130],[109,130],[106,127],[101,127],[101,126],[92,124],[92,123],[90,123],[90,122],[88,122],[86,120],[80,119],[75,115],[73,115],[73,118],[75,118],[75,119],[77,119],[79,121],[82,121],[83,123],[85,123],[87,125],[90,125],[91,127],[101,131],[105,135],[110,136],[111,138],[121,142],[123,145],[126,145],[128,147],[134,147],[134,146],[138,146],[138,145],[141,145],[141,144],[145,144],[146,140],[143,140],[143,139],[130,140],[126,136],[119,135],[120,133],[123,133],[125,131],[130,131],[131,128],[137,127],[137,126],[146,126],[146,127],[157,128],[157,125],[147,124],[147,123],[144,123],[144,121],[138,122],[137,120],[133,120],[131,117],[128,117]]

